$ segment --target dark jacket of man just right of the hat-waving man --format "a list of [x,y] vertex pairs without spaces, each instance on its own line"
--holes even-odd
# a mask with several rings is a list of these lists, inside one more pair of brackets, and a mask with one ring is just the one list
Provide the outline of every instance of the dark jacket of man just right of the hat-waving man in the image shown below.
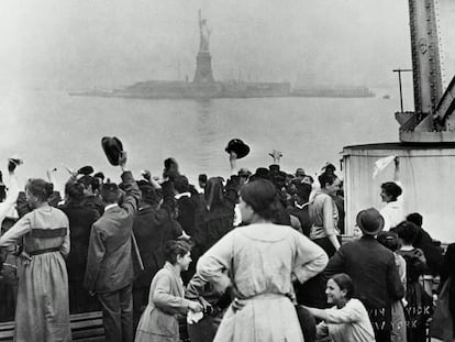
[[144,263],[144,272],[134,280],[134,287],[151,286],[152,278],[164,266],[163,247],[166,241],[181,235],[180,225],[171,219],[174,187],[166,181],[163,187],[163,205],[159,209],[143,206],[134,217],[133,232]]

